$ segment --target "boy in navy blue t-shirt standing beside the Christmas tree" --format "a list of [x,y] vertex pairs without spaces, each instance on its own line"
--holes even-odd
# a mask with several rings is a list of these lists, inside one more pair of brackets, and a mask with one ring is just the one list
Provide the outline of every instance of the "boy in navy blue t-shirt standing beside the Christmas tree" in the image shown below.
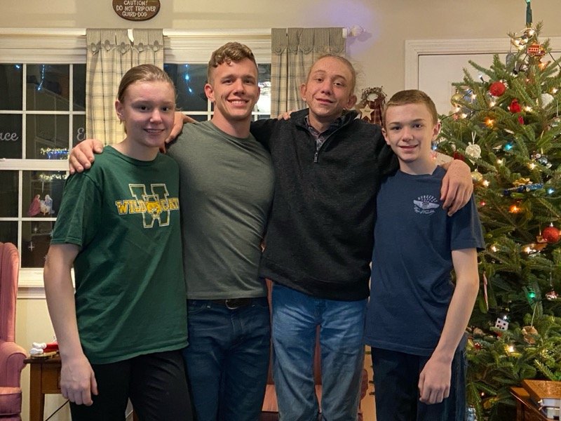
[[365,330],[378,421],[464,420],[465,330],[484,241],[473,197],[451,217],[442,209],[445,172],[431,156],[439,131],[424,92],[400,91],[386,105],[382,132],[400,169],[377,196]]

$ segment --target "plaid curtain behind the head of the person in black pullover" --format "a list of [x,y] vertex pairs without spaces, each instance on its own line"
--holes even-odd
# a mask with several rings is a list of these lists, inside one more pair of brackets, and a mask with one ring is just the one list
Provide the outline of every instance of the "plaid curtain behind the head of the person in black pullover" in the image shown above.
[[271,116],[306,106],[300,85],[325,54],[344,55],[343,28],[271,29]]

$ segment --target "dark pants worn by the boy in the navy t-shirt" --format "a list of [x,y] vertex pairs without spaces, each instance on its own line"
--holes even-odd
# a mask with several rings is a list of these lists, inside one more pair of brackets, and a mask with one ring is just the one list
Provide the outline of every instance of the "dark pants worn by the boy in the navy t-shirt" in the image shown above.
[[466,350],[452,360],[450,396],[441,403],[419,401],[419,375],[430,357],[372,348],[377,421],[464,421],[466,416]]

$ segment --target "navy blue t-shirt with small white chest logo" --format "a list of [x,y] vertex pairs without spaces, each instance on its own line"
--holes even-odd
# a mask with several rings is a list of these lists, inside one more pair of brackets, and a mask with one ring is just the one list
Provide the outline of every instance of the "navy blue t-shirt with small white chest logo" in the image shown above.
[[374,227],[365,342],[407,354],[433,353],[454,293],[452,250],[485,246],[473,197],[452,217],[440,202],[445,171],[398,171],[381,185]]

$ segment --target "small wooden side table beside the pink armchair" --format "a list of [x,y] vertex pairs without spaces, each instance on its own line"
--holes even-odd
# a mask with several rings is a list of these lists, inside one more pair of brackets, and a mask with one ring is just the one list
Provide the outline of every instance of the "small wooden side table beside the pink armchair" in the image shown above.
[[28,358],[29,421],[43,421],[46,394],[60,394],[60,356],[48,359]]

